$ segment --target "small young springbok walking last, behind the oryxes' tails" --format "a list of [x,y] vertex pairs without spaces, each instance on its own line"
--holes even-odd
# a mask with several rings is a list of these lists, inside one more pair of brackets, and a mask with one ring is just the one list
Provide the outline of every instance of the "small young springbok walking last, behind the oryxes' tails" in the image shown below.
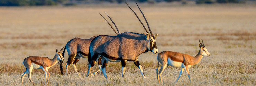
[[[50,67],[52,67],[53,65],[55,65],[59,60],[64,60],[61,52],[62,52],[63,48],[61,49],[60,52],[58,52],[58,49],[56,49],[56,54],[53,57],[53,59],[49,59],[48,57],[38,57],[38,56],[29,56],[27,58],[25,58],[23,60],[23,65],[26,67],[26,71],[24,73],[22,73],[21,76],[21,84],[23,83],[23,77],[28,74],[28,78],[29,80],[33,83],[33,81],[31,80],[31,73],[33,69],[43,69],[43,71],[45,72],[45,84],[48,84],[49,81],[49,77],[50,77],[50,73],[48,72],[48,69]],[[48,75],[48,79],[46,82],[46,78]],[[35,85],[33,83],[33,85]]]

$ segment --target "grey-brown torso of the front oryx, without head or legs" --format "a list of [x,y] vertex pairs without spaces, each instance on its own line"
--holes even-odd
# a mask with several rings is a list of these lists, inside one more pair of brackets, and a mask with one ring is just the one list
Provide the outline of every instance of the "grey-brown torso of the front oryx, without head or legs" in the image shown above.
[[120,59],[134,61],[135,57],[147,51],[146,35],[132,32],[117,36],[100,35],[95,37],[90,45],[92,56],[103,55],[112,61]]

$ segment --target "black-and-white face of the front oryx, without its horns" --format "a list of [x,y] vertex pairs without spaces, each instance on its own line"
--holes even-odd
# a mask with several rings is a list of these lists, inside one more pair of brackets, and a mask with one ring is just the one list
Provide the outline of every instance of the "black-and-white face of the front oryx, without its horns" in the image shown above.
[[147,33],[147,38],[146,38],[148,40],[147,49],[153,52],[154,54],[158,53],[158,49],[156,47],[157,35],[158,34],[155,34],[154,36],[149,36],[149,33]]

